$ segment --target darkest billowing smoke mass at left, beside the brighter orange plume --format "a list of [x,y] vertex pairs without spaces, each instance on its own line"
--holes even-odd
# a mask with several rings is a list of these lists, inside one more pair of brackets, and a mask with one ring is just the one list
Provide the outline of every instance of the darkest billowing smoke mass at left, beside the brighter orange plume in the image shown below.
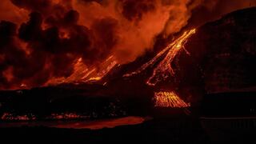
[[[32,12],[29,21],[22,23],[18,30],[14,23],[2,21],[1,87],[8,89],[22,82],[40,86],[50,77],[72,74],[76,58],[82,57],[89,66],[106,58],[107,49],[114,45],[115,33],[112,30],[115,22],[102,19],[95,22],[93,30],[89,30],[77,24],[78,17],[75,10],[51,20],[39,12]],[[42,29],[44,21],[47,24],[45,30]],[[106,26],[108,30],[105,30]],[[61,37],[62,30],[66,37]],[[15,42],[16,39],[26,42],[29,54]]]

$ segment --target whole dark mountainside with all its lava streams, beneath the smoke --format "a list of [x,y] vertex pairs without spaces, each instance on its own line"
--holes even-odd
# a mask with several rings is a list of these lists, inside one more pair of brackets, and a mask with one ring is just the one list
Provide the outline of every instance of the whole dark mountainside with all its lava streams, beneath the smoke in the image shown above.
[[2,118],[9,118],[6,114],[10,113],[29,113],[30,118],[35,118],[35,113],[41,118],[62,110],[90,118],[148,114],[163,103],[196,106],[203,94],[255,86],[255,15],[256,7],[226,14],[177,34],[162,50],[128,64],[107,58],[99,73],[83,69],[78,59],[78,71],[69,78],[53,79],[49,86],[31,90],[2,90]]

